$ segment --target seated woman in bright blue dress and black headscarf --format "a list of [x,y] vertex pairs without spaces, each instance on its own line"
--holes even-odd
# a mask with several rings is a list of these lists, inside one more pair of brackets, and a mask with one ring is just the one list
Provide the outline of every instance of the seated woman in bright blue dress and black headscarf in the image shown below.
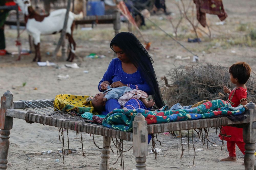
[[[152,65],[153,59],[135,35],[129,32],[116,34],[110,43],[110,48],[117,58],[112,59],[99,82],[99,91],[104,92],[108,85],[111,88],[128,86],[152,95],[156,107],[162,107],[164,102]],[[140,100],[136,99],[129,100],[125,107],[127,109],[146,108]],[[106,115],[115,108],[122,107],[116,99],[110,99],[106,102],[105,111],[102,114]]]

